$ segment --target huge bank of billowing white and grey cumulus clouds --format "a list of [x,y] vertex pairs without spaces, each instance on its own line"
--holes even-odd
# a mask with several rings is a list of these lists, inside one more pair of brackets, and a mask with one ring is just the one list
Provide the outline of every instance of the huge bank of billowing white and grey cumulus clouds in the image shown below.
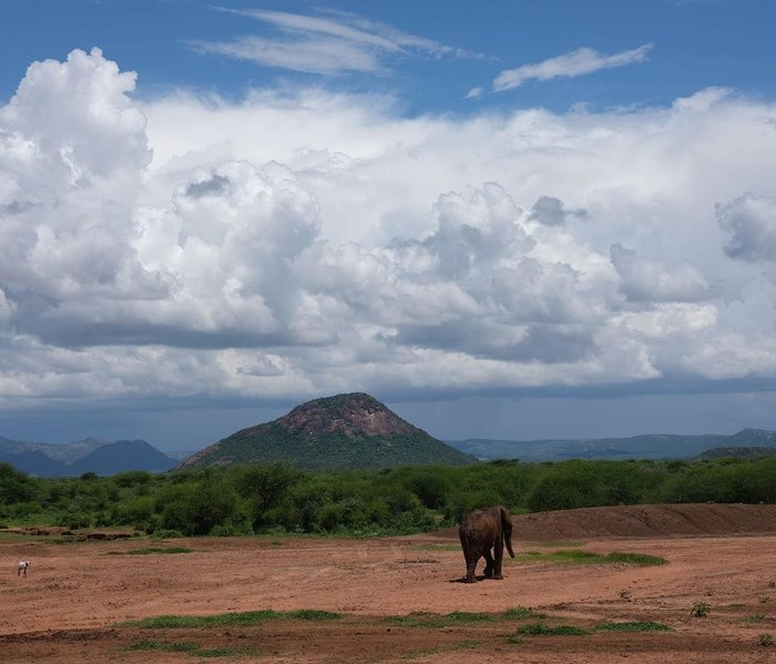
[[774,377],[772,104],[134,85],[74,51],[0,109],[2,407]]

